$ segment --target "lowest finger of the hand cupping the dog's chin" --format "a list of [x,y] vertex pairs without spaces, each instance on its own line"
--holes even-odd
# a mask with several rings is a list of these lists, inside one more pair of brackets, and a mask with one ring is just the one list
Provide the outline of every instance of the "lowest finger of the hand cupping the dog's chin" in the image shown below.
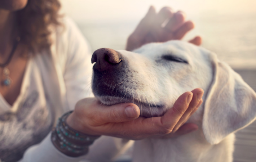
[[182,125],[175,133],[164,135],[162,138],[173,138],[198,130],[198,126],[194,123],[186,123]]

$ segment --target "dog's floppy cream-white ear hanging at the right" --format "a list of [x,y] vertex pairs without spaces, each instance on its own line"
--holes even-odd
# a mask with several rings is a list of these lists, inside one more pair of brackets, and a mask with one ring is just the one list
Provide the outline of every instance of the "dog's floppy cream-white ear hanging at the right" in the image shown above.
[[256,118],[256,93],[227,64],[212,57],[213,80],[204,104],[203,132],[211,144]]

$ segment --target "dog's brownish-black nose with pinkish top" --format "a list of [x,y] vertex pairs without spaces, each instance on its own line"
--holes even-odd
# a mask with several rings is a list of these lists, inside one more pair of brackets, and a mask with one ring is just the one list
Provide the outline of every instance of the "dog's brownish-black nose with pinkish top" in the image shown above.
[[94,68],[98,71],[106,71],[122,61],[122,55],[109,48],[100,48],[92,54],[92,63],[96,62]]

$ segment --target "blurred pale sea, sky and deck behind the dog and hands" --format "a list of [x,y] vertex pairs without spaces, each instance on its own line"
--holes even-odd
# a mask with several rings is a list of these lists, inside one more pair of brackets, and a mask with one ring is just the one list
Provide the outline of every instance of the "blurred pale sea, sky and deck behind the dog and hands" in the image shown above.
[[[71,17],[92,46],[125,49],[126,39],[150,5],[182,10],[202,46],[227,62],[256,91],[256,0],[61,0],[62,13]],[[256,162],[256,122],[236,134],[234,162]],[[131,156],[125,153],[122,158]]]

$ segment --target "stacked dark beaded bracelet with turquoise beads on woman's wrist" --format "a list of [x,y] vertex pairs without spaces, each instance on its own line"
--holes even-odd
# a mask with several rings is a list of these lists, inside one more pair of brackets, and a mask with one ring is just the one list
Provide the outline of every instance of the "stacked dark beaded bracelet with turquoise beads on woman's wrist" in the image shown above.
[[51,140],[62,153],[78,157],[87,154],[89,145],[100,136],[86,135],[67,125],[66,119],[72,112],[67,112],[58,119],[56,127],[52,130]]

